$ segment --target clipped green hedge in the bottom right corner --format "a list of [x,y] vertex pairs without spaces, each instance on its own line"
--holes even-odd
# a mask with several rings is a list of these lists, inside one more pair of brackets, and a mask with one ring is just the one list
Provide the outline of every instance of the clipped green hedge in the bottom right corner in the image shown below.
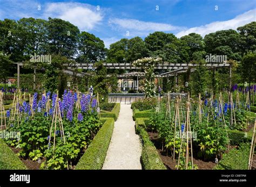
[[243,143],[223,154],[223,158],[213,169],[248,169],[250,143]]

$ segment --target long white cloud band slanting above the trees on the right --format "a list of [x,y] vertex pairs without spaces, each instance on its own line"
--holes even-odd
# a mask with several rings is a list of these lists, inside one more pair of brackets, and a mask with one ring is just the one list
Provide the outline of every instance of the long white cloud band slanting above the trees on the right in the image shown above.
[[199,27],[192,27],[192,28],[189,28],[188,30],[180,31],[179,33],[176,34],[176,37],[180,38],[180,37],[183,37],[184,35],[187,35],[193,32],[198,33],[202,37],[204,37],[208,33],[216,32],[220,30],[228,30],[228,29],[236,30],[237,27],[248,24],[252,21],[256,21],[256,9],[242,13],[241,15],[238,15],[235,18],[227,21],[214,21],[210,24],[206,24]]

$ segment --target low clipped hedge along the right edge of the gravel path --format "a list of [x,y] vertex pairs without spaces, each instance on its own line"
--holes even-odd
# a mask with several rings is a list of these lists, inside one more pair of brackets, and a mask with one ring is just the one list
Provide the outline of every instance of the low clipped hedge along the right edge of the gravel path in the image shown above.
[[142,167],[146,170],[165,170],[161,158],[157,152],[156,147],[149,138],[149,134],[147,134],[145,130],[145,122],[147,118],[137,118],[136,119],[136,133],[139,134],[140,140],[142,141]]

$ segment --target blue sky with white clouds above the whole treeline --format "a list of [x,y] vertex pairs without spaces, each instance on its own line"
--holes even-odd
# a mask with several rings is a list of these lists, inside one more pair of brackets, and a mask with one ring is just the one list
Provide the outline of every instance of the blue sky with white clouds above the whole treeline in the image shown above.
[[[40,10],[38,10],[40,9]],[[95,34],[106,47],[121,38],[155,31],[178,38],[191,32],[236,29],[256,21],[256,0],[0,0],[0,19],[61,18]]]

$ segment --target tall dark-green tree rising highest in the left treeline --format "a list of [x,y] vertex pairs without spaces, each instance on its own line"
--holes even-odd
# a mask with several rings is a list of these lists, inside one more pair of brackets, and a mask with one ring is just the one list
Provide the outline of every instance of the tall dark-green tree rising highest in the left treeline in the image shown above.
[[60,54],[68,58],[77,53],[79,29],[77,26],[58,18],[49,18],[47,24],[48,41],[46,50],[50,54]]

